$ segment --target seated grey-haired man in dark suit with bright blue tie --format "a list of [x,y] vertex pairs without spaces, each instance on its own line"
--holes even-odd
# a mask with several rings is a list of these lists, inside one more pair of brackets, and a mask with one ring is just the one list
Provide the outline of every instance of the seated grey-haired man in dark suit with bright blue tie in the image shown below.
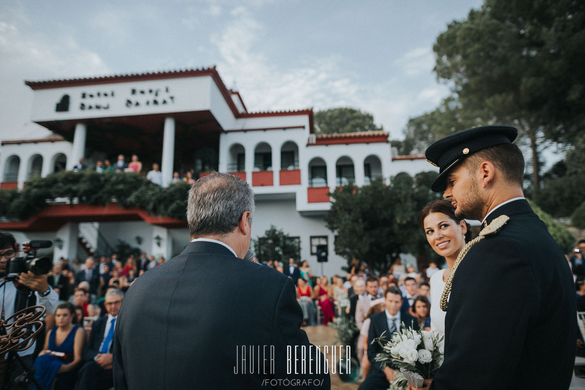
[[123,295],[122,291],[115,289],[106,292],[104,305],[108,315],[95,320],[91,326],[90,340],[83,352],[84,364],[75,384],[76,390],[109,389],[113,385],[112,340]]

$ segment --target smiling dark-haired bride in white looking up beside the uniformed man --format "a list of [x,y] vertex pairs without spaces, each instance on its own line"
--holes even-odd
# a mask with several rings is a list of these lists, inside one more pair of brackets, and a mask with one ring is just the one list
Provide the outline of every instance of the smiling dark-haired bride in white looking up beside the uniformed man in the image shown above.
[[419,224],[431,248],[447,261],[448,268],[431,277],[431,330],[444,336],[445,312],[439,307],[441,294],[453,263],[471,239],[471,230],[465,220],[455,216],[455,208],[449,201],[432,201],[426,205]]

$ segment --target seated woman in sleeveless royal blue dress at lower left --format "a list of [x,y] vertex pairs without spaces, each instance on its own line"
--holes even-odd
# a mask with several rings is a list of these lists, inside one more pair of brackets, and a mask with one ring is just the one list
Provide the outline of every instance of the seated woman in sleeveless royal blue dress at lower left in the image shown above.
[[75,308],[71,303],[57,306],[57,326],[47,333],[44,349],[35,361],[35,379],[42,390],[51,390],[53,381],[54,390],[72,390],[75,386],[85,346],[85,331],[82,326],[73,324],[74,319]]

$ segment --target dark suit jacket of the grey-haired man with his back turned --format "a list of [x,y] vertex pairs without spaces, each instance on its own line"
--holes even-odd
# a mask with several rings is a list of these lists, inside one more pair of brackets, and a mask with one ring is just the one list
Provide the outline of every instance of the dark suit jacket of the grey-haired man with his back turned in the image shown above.
[[[146,272],[129,288],[114,334],[114,386],[262,389],[273,386],[263,386],[264,379],[310,378],[324,381],[313,382],[315,388],[329,389],[329,374],[294,374],[295,364],[287,374],[287,346],[304,346],[307,361],[309,351],[312,359],[317,358],[301,323],[290,279],[273,268],[236,258],[220,244],[190,243],[180,256]],[[257,368],[264,346],[267,374],[262,364],[261,373]],[[256,362],[253,372],[249,367],[242,372],[242,348],[246,366],[252,358]],[[294,349],[291,352],[294,356]],[[312,365],[315,372],[315,360]]]

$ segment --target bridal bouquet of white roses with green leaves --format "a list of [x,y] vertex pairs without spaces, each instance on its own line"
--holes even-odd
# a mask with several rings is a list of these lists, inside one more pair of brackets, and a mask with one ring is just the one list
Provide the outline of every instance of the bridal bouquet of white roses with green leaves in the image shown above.
[[[395,332],[390,341],[386,340],[384,334],[374,341],[377,341],[384,350],[376,355],[376,361],[383,362],[383,367],[386,364],[394,364],[401,368],[402,374],[407,377],[408,371],[411,371],[422,378],[431,379],[435,377],[435,372],[443,363],[445,348],[443,336],[434,332],[414,330],[412,327],[405,329],[402,323],[402,333]],[[406,386],[407,382],[407,378],[398,375],[392,385],[401,388]]]

